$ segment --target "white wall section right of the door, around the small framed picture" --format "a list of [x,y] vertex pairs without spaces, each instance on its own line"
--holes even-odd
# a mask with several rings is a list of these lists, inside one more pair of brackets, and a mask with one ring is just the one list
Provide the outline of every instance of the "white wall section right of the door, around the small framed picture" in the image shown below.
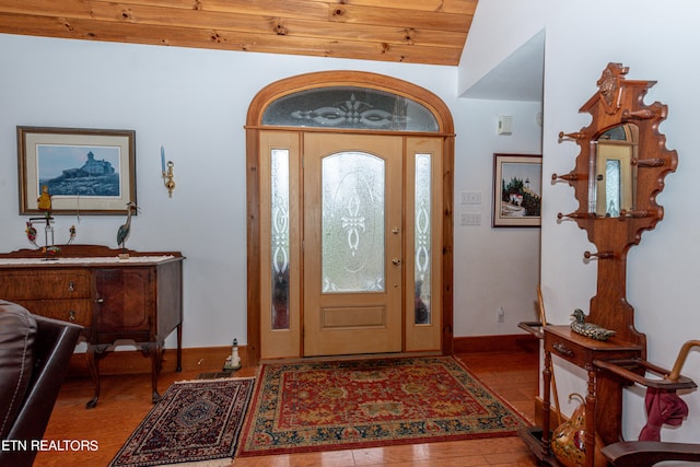
[[[537,319],[539,229],[491,227],[493,154],[541,154],[540,103],[462,100],[456,120],[454,303],[455,336],[522,332],[520,322]],[[499,136],[499,115],[513,117],[513,135]],[[460,192],[480,192],[481,205],[462,205]],[[460,225],[478,212],[481,225]],[[503,307],[504,322],[497,312]],[[464,319],[468,316],[468,319]]]

